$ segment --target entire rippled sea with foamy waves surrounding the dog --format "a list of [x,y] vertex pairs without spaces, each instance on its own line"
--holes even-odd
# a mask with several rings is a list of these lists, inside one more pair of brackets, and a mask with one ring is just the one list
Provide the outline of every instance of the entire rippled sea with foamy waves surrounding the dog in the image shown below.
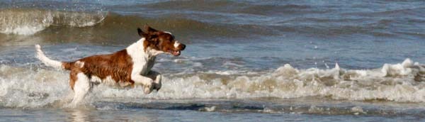
[[[425,1],[1,0],[0,121],[425,121]],[[122,50],[145,24],[186,44],[141,87],[94,87],[70,61]]]

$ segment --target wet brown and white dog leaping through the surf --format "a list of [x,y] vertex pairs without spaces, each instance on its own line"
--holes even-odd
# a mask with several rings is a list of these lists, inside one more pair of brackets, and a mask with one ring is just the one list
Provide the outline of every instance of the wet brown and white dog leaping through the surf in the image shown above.
[[93,84],[111,84],[120,87],[143,85],[145,94],[153,89],[161,89],[162,75],[152,71],[155,57],[162,53],[179,56],[186,45],[174,39],[174,35],[162,30],[145,26],[146,33],[140,28],[142,37],[124,50],[107,54],[84,57],[73,62],[51,60],[35,45],[39,60],[45,65],[57,69],[70,70],[69,85],[74,90],[72,104],[78,104],[89,92]]

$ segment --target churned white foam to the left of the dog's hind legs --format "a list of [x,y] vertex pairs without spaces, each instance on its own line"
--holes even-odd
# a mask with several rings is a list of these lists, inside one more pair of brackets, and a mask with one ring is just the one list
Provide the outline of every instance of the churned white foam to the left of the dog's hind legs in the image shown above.
[[39,107],[66,98],[67,74],[0,65],[0,104],[7,107]]

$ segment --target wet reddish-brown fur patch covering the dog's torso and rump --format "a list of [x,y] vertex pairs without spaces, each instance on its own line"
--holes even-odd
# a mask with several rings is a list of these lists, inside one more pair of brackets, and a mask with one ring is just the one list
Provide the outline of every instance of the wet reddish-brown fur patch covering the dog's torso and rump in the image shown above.
[[89,79],[92,76],[96,76],[103,80],[111,76],[117,83],[123,82],[131,86],[134,84],[134,81],[131,79],[133,62],[127,50],[121,50],[108,55],[93,55],[77,61],[84,63],[84,65],[81,67],[79,65],[81,63],[64,63],[65,69],[71,70],[69,74],[69,85],[71,85],[71,89],[74,89],[74,84],[77,82],[77,74],[80,72],[86,74]]

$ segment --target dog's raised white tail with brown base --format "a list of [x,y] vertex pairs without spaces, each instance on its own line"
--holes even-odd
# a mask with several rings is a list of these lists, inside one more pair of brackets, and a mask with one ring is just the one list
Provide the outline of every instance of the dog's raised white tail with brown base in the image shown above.
[[72,65],[74,65],[74,62],[60,62],[57,60],[51,60],[49,57],[46,57],[44,52],[42,52],[40,45],[35,45],[35,50],[37,51],[35,57],[37,57],[38,60],[47,66],[54,67],[59,70],[71,70]]

